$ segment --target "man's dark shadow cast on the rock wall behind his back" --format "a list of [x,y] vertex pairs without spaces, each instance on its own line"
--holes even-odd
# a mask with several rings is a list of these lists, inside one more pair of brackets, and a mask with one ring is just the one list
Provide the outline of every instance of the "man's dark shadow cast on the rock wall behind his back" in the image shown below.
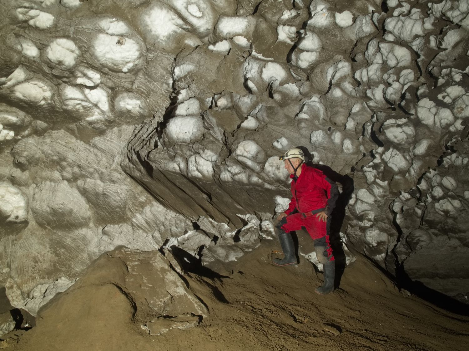
[[326,177],[335,183],[342,185],[342,192],[340,193],[335,203],[335,209],[332,212],[331,228],[329,231],[329,241],[333,249],[333,255],[335,258],[335,287],[340,285],[340,278],[345,270],[346,257],[342,248],[342,241],[340,239],[340,229],[342,228],[345,219],[345,208],[347,207],[348,201],[354,190],[354,182],[350,176],[341,175],[332,168],[326,165],[313,163],[314,158],[310,154],[309,150],[304,146],[296,146],[303,150],[303,154],[306,156],[306,165],[317,168],[322,171]]

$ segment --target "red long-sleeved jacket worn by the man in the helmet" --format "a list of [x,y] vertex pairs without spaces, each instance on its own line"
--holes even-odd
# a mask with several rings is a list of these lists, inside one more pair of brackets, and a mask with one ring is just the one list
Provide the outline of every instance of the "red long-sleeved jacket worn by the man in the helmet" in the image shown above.
[[337,185],[327,178],[319,169],[303,164],[301,174],[295,181],[295,176],[291,175],[292,199],[285,213],[290,214],[295,209],[298,212],[306,213],[321,208],[325,208],[325,213],[330,216],[339,191]]

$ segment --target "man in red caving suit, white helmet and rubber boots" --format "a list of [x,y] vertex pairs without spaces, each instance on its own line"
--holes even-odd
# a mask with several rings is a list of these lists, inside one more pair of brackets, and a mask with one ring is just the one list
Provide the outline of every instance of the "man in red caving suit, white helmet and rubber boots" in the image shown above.
[[317,287],[315,292],[325,295],[334,290],[335,262],[329,244],[329,228],[339,191],[323,172],[304,163],[301,149],[288,150],[280,156],[280,160],[285,162],[292,179],[292,199],[288,209],[277,217],[279,224],[276,227],[285,257],[274,258],[273,263],[279,266],[297,263],[290,232],[306,228],[313,239],[318,261],[324,267],[324,284]]

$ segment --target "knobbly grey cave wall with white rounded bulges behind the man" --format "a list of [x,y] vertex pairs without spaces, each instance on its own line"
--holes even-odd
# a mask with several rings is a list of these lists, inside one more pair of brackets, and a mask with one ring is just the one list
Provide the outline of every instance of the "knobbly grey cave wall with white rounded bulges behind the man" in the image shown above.
[[467,0],[0,10],[15,307],[117,245],[237,259],[272,233],[287,196],[276,155],[297,145],[353,179],[348,243],[401,278],[469,290]]

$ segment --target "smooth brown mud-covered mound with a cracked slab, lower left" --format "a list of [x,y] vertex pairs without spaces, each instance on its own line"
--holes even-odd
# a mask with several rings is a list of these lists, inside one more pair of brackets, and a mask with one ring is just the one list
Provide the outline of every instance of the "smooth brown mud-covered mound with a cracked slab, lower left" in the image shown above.
[[[116,336],[108,345],[118,349],[121,337],[138,339],[142,329],[159,335],[172,328],[196,326],[208,316],[208,309],[191,290],[191,278],[182,278],[175,269],[181,270],[159,251],[109,251],[93,261],[66,292],[39,310],[38,330],[53,328],[68,337],[64,344],[54,346],[65,349],[76,347],[70,337],[84,333],[88,337],[81,347],[96,350],[102,329],[106,335]],[[40,343],[47,339],[46,334],[35,332],[36,328],[32,337]]]

